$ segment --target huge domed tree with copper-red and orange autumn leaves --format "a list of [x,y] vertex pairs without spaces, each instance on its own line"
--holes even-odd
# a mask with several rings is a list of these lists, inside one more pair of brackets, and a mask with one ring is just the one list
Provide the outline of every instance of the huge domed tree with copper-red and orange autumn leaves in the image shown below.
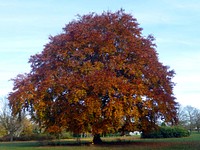
[[95,143],[101,133],[175,123],[174,71],[158,61],[153,42],[123,10],[79,16],[14,79],[13,113],[26,109],[51,133],[91,132]]

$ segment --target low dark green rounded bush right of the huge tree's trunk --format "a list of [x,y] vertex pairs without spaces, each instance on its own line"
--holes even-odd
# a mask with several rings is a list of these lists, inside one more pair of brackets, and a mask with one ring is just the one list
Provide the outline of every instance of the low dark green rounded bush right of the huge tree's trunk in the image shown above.
[[142,138],[179,138],[179,137],[187,137],[190,133],[188,130],[183,127],[174,126],[167,127],[161,126],[157,130],[153,130],[150,132],[143,132]]

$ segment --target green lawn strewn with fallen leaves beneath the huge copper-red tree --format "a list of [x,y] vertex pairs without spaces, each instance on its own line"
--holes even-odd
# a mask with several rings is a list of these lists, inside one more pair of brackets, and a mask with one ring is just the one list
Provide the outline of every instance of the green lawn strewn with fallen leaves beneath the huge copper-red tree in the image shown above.
[[[81,146],[75,140],[60,141],[62,146],[48,146],[47,142],[2,142],[0,150],[198,150],[200,134],[186,138],[139,139],[138,137],[102,138],[103,145],[89,144],[92,139],[82,139]],[[64,146],[65,144],[65,146]]]

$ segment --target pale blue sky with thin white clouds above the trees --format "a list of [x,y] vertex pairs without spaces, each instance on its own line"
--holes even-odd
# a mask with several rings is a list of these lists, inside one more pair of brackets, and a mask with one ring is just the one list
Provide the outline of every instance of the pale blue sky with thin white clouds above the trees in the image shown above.
[[159,61],[175,70],[176,101],[200,109],[199,0],[0,0],[0,97],[12,91],[12,78],[30,71],[30,56],[77,14],[121,8],[144,36],[155,37]]

